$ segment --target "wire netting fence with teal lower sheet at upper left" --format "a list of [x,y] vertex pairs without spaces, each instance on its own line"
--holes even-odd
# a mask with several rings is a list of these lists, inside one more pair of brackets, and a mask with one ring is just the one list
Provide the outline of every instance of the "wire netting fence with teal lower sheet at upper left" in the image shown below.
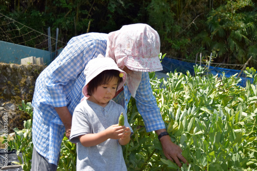
[[[38,55],[36,57],[47,59],[45,60],[47,63],[48,55],[50,55],[49,58],[50,61],[52,61],[58,55],[58,50],[64,48],[66,43],[58,40],[58,28],[56,38],[51,37],[49,27],[47,31],[48,34],[39,32],[0,13],[0,41],[2,41],[2,47],[0,47],[0,62],[19,64],[17,61],[20,59],[34,56],[35,54]],[[5,45],[7,45],[7,47]],[[38,51],[38,49],[48,52]],[[35,52],[35,54],[33,52]],[[13,56],[10,54],[14,54],[15,59],[13,59]]]

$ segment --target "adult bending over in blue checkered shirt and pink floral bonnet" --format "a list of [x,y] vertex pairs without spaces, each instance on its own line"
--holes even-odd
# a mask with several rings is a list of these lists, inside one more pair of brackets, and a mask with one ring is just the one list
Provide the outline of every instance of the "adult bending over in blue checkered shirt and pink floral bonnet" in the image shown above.
[[62,53],[39,75],[33,96],[32,170],[57,170],[63,134],[70,136],[71,118],[83,98],[83,70],[98,54],[112,58],[127,73],[122,91],[114,98],[127,110],[131,96],[143,117],[146,131],[155,131],[166,157],[178,166],[187,160],[165,129],[148,72],[162,70],[158,33],[146,24],[123,26],[120,30],[87,33],[73,37]]

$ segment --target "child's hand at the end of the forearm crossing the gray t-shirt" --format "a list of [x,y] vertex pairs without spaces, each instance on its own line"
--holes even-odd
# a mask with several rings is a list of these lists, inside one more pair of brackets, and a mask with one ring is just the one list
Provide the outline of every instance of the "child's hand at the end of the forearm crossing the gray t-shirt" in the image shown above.
[[[120,139],[124,136],[124,132],[126,131],[125,126],[119,126],[118,124],[109,126],[105,129],[108,138],[111,139]],[[128,128],[130,131],[130,128]]]

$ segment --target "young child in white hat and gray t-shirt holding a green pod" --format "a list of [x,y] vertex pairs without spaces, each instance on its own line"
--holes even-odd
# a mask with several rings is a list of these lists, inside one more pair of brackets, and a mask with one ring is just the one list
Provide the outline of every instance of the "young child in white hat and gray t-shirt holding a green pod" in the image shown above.
[[[70,141],[77,143],[77,170],[127,170],[121,145],[133,132],[124,108],[112,100],[126,73],[100,54],[88,62],[84,74],[86,98],[74,111],[70,134]],[[121,112],[124,126],[118,125]]]

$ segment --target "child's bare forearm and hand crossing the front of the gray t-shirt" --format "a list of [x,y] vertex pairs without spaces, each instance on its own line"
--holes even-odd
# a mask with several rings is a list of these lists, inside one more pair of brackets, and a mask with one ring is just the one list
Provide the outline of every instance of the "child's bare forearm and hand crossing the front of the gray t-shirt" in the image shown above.
[[106,141],[109,138],[121,139],[122,137],[124,137],[123,132],[125,132],[125,129],[125,126],[119,126],[118,124],[116,124],[95,134],[81,135],[79,136],[79,140],[81,144],[85,147],[95,146]]

